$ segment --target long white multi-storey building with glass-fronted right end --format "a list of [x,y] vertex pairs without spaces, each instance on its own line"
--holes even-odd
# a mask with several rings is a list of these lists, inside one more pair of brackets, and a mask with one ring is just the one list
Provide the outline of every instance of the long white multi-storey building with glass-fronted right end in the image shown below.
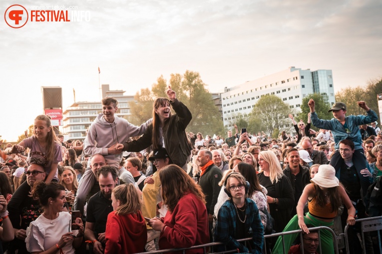
[[226,87],[221,94],[224,127],[232,127],[231,120],[239,113],[244,116],[251,113],[264,95],[276,95],[291,109],[301,110],[302,99],[312,93],[320,93],[326,102],[335,103],[332,70],[311,71],[289,67],[235,87]]

